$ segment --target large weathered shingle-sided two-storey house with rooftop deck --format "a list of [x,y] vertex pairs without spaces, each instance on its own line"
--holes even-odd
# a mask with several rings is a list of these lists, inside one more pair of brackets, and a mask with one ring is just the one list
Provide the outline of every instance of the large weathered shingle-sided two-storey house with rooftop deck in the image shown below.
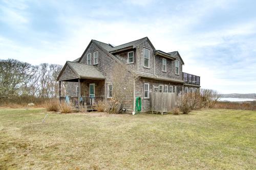
[[[128,113],[135,110],[138,97],[141,112],[151,111],[150,92],[176,92],[177,105],[181,105],[185,93],[200,88],[199,76],[182,72],[184,61],[177,51],[156,50],[147,37],[118,46],[91,40],[80,58],[66,62],[57,80],[67,82],[67,95],[74,104],[79,98],[85,106],[95,100],[111,101],[116,65],[122,68],[121,105]],[[134,75],[139,79],[133,81]]]

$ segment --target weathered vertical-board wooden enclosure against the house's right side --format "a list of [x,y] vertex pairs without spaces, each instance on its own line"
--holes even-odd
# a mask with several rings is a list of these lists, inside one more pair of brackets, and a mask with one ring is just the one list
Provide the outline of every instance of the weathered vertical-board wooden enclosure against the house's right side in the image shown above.
[[154,112],[170,112],[176,106],[176,93],[151,92],[151,109]]

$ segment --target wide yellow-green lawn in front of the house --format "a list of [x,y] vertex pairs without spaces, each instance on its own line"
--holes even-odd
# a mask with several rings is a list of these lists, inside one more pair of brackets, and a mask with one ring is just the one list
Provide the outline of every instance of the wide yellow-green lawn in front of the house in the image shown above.
[[256,111],[0,110],[0,169],[254,169]]

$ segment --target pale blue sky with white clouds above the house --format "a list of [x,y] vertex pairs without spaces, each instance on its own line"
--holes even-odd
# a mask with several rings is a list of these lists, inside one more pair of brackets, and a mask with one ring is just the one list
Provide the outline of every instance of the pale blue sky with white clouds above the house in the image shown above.
[[64,65],[91,39],[148,37],[220,93],[256,93],[256,1],[0,0],[0,59]]

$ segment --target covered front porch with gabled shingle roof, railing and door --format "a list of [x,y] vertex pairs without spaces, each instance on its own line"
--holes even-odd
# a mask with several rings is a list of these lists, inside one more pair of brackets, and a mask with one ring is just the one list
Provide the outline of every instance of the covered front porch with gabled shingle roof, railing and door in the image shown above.
[[[96,103],[105,100],[105,78],[92,65],[68,61],[57,80],[59,102],[69,103],[76,111],[95,110]],[[61,96],[61,82],[67,82],[65,96]]]

